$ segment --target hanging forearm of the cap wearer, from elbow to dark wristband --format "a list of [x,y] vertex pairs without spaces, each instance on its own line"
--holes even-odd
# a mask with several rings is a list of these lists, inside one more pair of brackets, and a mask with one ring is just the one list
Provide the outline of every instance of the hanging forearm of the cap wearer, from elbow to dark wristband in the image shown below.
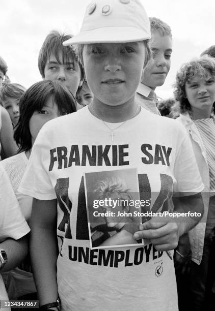
[[30,253],[40,305],[55,302],[58,298],[56,231],[33,228]]

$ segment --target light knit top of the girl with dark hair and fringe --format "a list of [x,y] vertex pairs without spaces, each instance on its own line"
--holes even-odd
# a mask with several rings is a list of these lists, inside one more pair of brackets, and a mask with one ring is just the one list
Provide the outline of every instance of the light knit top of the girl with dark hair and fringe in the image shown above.
[[10,178],[13,191],[16,195],[16,198],[19,202],[21,211],[28,221],[31,216],[32,211],[32,197],[26,196],[18,191],[19,184],[24,175],[26,166],[28,164],[28,158],[25,155],[25,152],[18,153],[13,155],[13,157],[7,158],[2,161],[2,164]]

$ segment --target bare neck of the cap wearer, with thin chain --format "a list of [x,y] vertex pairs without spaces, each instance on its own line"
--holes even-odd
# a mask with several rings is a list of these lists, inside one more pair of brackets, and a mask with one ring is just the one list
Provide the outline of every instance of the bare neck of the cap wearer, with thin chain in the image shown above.
[[103,121],[110,123],[126,121],[134,117],[136,115],[136,112],[138,114],[140,111],[140,109],[137,109],[135,96],[133,96],[126,103],[117,106],[103,104],[99,102],[96,98],[94,98],[93,102],[88,107],[90,108],[90,112],[95,117],[99,116]]

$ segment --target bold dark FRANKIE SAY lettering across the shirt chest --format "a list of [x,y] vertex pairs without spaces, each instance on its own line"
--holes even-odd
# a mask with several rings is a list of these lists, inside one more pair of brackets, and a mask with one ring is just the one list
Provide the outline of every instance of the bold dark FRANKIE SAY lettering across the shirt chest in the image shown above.
[[[163,145],[141,145],[141,160],[144,164],[162,164],[170,166],[172,148]],[[50,164],[48,171],[57,168],[66,169],[71,166],[123,166],[129,165],[129,145],[71,145],[56,147],[50,150]]]

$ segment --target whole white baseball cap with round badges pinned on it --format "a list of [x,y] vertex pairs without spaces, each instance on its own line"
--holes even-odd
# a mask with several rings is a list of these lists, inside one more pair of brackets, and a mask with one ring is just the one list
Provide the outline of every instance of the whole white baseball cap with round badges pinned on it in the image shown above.
[[149,18],[140,0],[96,0],[88,5],[79,34],[63,45],[137,42],[150,37]]

